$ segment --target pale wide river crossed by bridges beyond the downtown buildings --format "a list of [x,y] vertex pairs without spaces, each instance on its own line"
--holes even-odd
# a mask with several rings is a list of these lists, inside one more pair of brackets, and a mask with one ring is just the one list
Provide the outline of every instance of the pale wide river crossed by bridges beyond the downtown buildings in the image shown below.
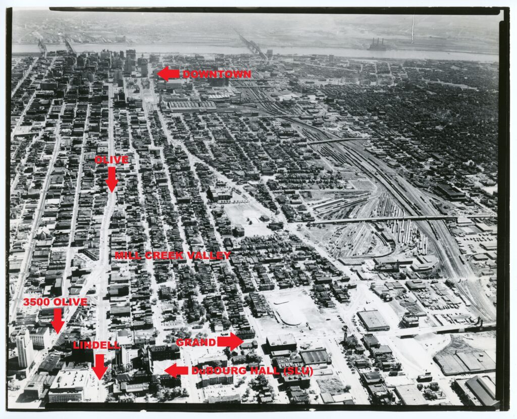
[[[249,50],[242,47],[209,45],[201,43],[192,44],[128,44],[128,43],[82,43],[73,44],[77,52],[100,52],[104,49],[110,51],[136,50],[137,54],[142,53],[179,53],[179,54],[249,54]],[[64,44],[48,44],[49,52],[64,50]],[[12,44],[13,53],[35,53],[39,52],[36,44]],[[265,52],[265,51],[264,51]],[[282,55],[334,55],[336,57],[351,58],[373,58],[373,59],[437,59],[453,61],[480,61],[487,63],[499,62],[497,54],[480,54],[474,52],[456,51],[410,51],[410,50],[387,50],[369,51],[351,48],[328,48],[328,47],[281,47],[273,48],[275,54]]]

